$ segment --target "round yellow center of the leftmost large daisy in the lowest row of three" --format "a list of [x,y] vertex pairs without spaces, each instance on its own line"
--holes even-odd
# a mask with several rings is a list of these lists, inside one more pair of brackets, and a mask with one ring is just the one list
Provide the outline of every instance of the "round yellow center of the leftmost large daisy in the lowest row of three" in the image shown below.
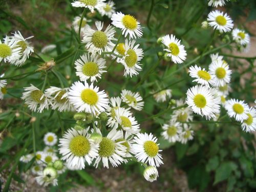
[[73,155],[82,157],[89,153],[91,145],[87,138],[78,135],[70,141],[69,148]]

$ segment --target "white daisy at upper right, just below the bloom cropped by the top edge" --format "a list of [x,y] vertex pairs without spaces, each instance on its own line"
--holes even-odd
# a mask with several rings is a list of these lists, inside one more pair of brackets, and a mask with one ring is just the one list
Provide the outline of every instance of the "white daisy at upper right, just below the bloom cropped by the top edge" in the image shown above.
[[218,10],[211,11],[208,14],[207,21],[209,26],[222,32],[229,32],[233,28],[233,21],[227,15],[227,13],[220,12]]

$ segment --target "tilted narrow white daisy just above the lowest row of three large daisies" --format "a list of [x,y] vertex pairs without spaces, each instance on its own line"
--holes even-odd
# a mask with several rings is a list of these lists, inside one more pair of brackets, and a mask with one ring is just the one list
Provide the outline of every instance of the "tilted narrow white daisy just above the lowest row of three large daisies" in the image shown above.
[[117,123],[129,134],[140,132],[140,125],[130,112],[123,108],[115,110]]

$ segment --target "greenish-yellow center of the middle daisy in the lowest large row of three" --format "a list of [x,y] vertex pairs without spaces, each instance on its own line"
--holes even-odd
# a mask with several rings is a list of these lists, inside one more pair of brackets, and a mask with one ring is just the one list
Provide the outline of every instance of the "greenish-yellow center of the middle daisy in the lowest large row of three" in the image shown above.
[[99,156],[110,157],[115,153],[115,142],[109,138],[103,137],[99,143]]

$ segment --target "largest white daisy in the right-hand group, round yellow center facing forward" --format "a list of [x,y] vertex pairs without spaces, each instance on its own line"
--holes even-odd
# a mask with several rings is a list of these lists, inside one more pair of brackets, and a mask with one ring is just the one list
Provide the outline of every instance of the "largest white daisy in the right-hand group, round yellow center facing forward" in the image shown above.
[[205,115],[208,119],[219,113],[220,97],[216,95],[216,90],[200,85],[188,89],[186,95],[186,103],[194,113]]

